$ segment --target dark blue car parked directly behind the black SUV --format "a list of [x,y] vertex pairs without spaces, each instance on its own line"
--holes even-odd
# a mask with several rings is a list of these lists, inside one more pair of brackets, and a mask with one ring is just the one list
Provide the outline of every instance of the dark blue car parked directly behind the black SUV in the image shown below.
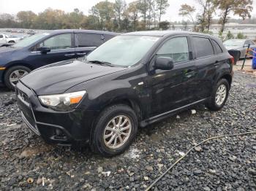
[[116,35],[107,31],[56,30],[0,47],[0,83],[14,89],[18,79],[31,70],[84,56]]

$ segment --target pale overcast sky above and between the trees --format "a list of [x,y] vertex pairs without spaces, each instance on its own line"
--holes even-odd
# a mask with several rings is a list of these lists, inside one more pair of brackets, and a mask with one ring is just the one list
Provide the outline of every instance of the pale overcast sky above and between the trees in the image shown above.
[[[4,1],[0,0],[0,13],[16,14],[19,11],[31,10],[33,12],[42,12],[44,9],[51,7],[53,9],[62,9],[65,12],[72,12],[73,9],[78,8],[85,14],[88,14],[94,4],[104,0],[18,0],[18,1]],[[109,0],[114,2],[115,0]],[[126,0],[127,3],[133,0]],[[178,15],[178,9],[181,4],[190,4],[198,8],[196,0],[169,0],[170,7],[167,9],[167,13],[162,20],[178,21],[182,20],[182,17]],[[255,9],[252,12],[252,16],[256,17],[256,0],[253,1],[253,7]]]

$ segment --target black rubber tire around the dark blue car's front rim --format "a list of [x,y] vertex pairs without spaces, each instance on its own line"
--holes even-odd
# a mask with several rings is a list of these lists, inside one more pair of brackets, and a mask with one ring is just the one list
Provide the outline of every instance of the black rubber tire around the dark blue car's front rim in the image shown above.
[[[24,74],[28,74],[31,69],[29,69],[26,66],[13,66],[10,69],[7,69],[7,71],[4,74],[4,84],[10,89],[10,90],[15,90],[15,82],[11,82],[10,81],[10,76],[13,74],[13,72],[15,71],[20,71],[19,74],[20,76],[17,76],[18,79],[20,79],[20,77],[23,77],[21,74],[24,71]],[[18,82],[18,81],[17,81]],[[17,83],[16,82],[16,83]]]

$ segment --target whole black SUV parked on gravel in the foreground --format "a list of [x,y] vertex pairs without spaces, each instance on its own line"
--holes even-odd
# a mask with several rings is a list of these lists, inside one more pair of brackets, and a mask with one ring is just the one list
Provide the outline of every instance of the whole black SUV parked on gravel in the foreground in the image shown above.
[[110,39],[83,61],[42,67],[17,84],[26,125],[52,144],[118,155],[144,127],[195,104],[217,111],[233,57],[214,36],[143,31]]

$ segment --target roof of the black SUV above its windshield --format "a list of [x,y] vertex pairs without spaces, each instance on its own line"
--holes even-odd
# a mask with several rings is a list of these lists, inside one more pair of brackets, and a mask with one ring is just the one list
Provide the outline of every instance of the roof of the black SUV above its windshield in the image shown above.
[[136,32],[131,32],[127,34],[122,34],[122,35],[169,36],[173,34],[197,34],[197,35],[210,36],[208,34],[195,33],[190,31],[136,31]]

